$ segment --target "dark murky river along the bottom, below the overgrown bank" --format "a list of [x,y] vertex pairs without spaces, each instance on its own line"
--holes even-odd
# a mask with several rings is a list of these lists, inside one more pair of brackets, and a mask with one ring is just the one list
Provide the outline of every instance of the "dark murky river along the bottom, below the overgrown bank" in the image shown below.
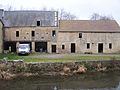
[[0,90],[120,90],[120,72],[0,80]]

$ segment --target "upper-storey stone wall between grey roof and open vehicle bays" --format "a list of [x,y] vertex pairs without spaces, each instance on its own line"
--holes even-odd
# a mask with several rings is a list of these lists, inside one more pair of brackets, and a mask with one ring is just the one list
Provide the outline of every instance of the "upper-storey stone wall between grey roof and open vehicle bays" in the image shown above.
[[[56,29],[56,27],[5,28],[5,41],[52,41],[52,31]],[[16,37],[16,31],[19,31],[19,37]],[[34,37],[32,31],[35,31]]]

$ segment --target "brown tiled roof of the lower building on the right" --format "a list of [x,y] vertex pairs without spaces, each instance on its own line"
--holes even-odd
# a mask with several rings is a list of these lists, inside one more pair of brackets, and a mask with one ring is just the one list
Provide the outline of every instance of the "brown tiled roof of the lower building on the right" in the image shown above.
[[61,20],[59,31],[120,32],[115,20]]

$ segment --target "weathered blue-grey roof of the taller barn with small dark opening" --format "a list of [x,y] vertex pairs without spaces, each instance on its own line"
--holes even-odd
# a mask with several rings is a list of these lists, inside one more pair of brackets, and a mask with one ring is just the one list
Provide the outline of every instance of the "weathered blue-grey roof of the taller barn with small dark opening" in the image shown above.
[[36,26],[40,21],[41,26],[55,26],[56,11],[0,11],[5,27]]

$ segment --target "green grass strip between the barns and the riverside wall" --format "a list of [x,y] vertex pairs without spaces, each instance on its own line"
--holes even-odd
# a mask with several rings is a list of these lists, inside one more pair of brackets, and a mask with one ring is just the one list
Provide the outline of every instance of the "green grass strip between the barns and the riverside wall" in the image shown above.
[[50,55],[50,54],[30,54],[28,56],[18,56],[14,53],[9,54],[0,54],[0,59],[7,58],[8,60],[18,60],[22,59],[25,62],[73,62],[73,61],[81,61],[81,60],[112,60],[113,57],[116,60],[120,60],[120,55],[109,54],[109,55],[64,55],[62,57],[36,57],[39,55]]

